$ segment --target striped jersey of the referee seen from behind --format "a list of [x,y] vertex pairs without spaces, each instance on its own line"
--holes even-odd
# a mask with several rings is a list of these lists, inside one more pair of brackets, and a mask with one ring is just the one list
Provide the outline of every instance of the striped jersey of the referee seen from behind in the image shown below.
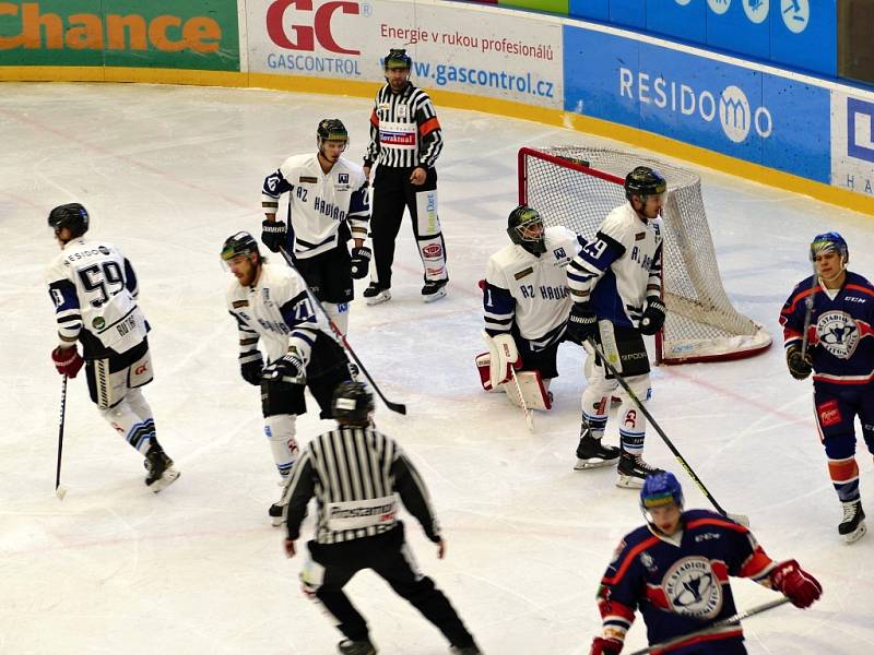
[[336,544],[373,537],[398,523],[398,496],[427,537],[440,528],[425,484],[397,441],[374,430],[341,426],[314,439],[292,469],[288,538],[300,536],[309,499],[316,497],[316,541]]

